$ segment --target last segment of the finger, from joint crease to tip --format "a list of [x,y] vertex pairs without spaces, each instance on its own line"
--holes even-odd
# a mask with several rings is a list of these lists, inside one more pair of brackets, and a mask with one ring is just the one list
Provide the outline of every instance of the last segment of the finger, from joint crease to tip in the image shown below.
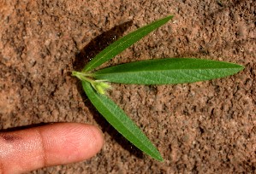
[[102,132],[94,125],[78,123],[59,125],[45,126],[41,130],[45,142],[46,165],[60,165],[60,162],[68,164],[90,159],[104,144]]

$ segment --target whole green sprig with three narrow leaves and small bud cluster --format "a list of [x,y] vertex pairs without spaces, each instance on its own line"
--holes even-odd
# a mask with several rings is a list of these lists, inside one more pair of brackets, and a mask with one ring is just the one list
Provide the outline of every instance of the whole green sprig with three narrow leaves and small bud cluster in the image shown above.
[[96,55],[86,64],[81,72],[72,75],[82,81],[83,90],[98,112],[122,136],[132,142],[134,146],[150,155],[154,159],[163,161],[158,149],[129,119],[122,108],[118,107],[108,96],[110,83],[122,84],[181,84],[192,83],[214,78],[223,78],[240,72],[244,67],[224,62],[193,58],[165,58],[157,60],[136,61],[114,67],[107,67],[95,71],[104,62],[120,54],[124,49],[145,37],[148,33],[163,26],[173,18],[172,15],[143,26],[134,32],[120,38],[115,43]]

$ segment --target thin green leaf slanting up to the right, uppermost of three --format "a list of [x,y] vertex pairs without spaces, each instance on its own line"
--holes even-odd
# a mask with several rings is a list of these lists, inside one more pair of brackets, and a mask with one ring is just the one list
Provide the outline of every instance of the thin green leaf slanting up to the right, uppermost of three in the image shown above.
[[172,17],[173,16],[170,15],[165,17],[164,19],[154,21],[147,26],[143,26],[140,29],[129,33],[123,38],[120,38],[115,43],[110,44],[110,46],[105,48],[98,55],[96,55],[92,59],[92,61],[89,61],[89,63],[86,64],[86,67],[84,67],[83,72],[88,72],[94,69],[95,67],[100,66],[104,62],[109,61],[111,58],[121,53],[124,49],[127,49],[129,46],[136,43],[141,38],[145,37],[149,32],[152,32],[153,30],[157,29],[159,26],[163,26]]

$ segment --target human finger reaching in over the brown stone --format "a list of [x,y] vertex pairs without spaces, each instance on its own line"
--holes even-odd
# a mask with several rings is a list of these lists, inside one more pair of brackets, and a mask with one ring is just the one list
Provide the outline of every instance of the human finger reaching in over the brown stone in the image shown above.
[[24,173],[90,159],[104,143],[101,131],[78,123],[57,123],[0,133],[0,173]]

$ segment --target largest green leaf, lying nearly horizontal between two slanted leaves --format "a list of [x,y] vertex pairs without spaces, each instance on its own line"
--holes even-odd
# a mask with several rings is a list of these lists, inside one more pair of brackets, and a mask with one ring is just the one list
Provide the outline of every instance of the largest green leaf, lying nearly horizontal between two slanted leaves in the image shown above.
[[93,78],[123,84],[181,84],[223,78],[242,69],[223,61],[170,58],[104,68],[95,72]]

